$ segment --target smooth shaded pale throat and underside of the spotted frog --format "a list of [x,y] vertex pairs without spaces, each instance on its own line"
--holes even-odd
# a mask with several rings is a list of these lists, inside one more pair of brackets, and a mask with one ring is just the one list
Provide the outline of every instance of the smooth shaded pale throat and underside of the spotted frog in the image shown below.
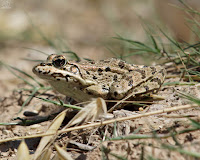
[[91,98],[95,98],[97,96],[90,95],[84,91],[84,88],[79,85],[79,83],[71,82],[66,83],[65,81],[48,81],[50,85],[59,93],[64,94],[68,97],[73,98],[77,102],[88,101]]

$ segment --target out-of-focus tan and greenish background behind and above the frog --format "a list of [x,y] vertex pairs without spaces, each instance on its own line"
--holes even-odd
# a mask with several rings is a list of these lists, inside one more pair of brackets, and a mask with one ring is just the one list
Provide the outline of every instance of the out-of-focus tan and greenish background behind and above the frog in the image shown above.
[[[200,8],[199,0],[184,2]],[[57,52],[51,42],[60,51],[70,50],[81,58],[106,59],[114,57],[113,53],[126,52],[127,44],[112,37],[146,42],[146,26],[166,44],[160,28],[180,42],[195,41],[189,22],[194,17],[183,8],[187,9],[179,0],[1,0],[0,60],[31,74],[35,63],[22,59],[46,58],[36,50]],[[136,55],[128,60],[150,64],[151,56],[147,59]],[[9,90],[17,80],[2,66],[0,72],[2,91]]]

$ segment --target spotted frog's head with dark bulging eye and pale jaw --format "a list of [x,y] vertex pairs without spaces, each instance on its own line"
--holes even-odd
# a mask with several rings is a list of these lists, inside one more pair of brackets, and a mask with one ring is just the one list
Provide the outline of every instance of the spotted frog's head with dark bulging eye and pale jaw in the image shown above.
[[85,86],[94,83],[83,79],[79,67],[76,64],[69,63],[63,55],[49,55],[46,62],[42,62],[33,67],[33,73],[50,83],[52,81],[61,81],[62,83],[73,82]]

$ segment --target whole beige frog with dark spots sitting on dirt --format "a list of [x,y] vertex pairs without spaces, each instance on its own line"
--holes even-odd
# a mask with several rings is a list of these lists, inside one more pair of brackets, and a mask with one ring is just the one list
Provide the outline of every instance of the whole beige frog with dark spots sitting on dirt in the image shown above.
[[121,100],[130,95],[136,98],[157,93],[166,76],[160,65],[135,65],[117,58],[77,62],[57,54],[49,55],[32,71],[56,91],[77,102],[97,97]]

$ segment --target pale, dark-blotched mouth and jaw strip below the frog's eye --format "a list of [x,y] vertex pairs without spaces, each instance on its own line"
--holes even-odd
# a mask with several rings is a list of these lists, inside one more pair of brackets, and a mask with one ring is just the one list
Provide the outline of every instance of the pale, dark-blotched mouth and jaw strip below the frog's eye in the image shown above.
[[73,72],[58,69],[51,66],[41,66],[37,65],[32,69],[33,73],[36,74],[41,79],[45,79],[47,81],[65,81],[71,82],[79,82],[81,85],[89,86],[94,85],[96,82],[83,79],[81,74],[74,74]]

